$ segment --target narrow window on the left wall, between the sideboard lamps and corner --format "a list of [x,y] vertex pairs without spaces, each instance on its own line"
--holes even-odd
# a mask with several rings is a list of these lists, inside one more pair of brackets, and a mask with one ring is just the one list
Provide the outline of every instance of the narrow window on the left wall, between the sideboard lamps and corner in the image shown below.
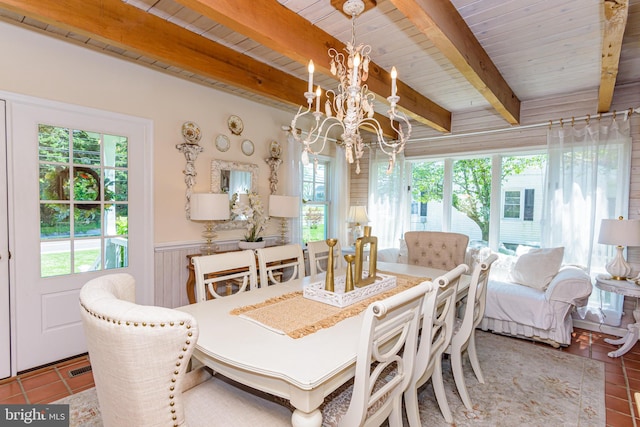
[[302,166],[302,241],[327,238],[329,211],[328,160]]

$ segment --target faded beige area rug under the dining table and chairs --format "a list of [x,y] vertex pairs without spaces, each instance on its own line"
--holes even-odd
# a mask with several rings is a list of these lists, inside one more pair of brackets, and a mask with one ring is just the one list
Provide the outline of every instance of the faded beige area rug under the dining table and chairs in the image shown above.
[[[485,384],[478,383],[467,359],[464,364],[473,411],[462,404],[449,362],[443,363],[454,426],[605,425],[604,363],[479,330],[476,341]],[[442,418],[431,382],[420,389],[419,399],[423,426],[451,426]],[[70,405],[71,427],[102,426],[95,388],[54,403]]]

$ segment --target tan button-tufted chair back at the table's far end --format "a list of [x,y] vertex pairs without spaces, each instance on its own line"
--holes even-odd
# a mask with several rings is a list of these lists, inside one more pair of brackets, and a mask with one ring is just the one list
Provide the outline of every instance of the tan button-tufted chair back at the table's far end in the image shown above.
[[407,264],[453,270],[464,264],[469,236],[441,231],[408,231],[404,234],[407,244]]

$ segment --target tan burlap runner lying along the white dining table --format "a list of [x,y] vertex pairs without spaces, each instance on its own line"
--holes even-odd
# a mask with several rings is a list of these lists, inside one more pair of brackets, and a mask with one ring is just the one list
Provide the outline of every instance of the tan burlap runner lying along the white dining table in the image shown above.
[[305,298],[302,291],[297,291],[270,298],[259,304],[238,307],[230,314],[245,317],[291,338],[302,338],[320,329],[329,328],[348,317],[360,314],[374,301],[402,292],[425,280],[431,280],[384,271],[380,271],[380,273],[395,276],[396,287],[348,307],[334,307],[313,301]]

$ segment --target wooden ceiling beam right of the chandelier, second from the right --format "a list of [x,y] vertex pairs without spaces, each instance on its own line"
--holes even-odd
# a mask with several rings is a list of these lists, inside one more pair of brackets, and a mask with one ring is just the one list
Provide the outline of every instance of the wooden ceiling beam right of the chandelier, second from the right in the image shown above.
[[511,124],[520,100],[449,0],[390,0]]

